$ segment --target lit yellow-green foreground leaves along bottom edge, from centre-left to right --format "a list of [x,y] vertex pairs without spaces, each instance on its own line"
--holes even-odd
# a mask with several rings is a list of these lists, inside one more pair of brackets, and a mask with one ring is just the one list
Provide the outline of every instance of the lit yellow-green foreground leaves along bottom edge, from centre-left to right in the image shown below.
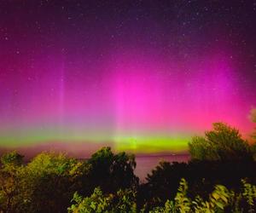
[[[167,199],[164,206],[156,206],[149,213],[222,213],[222,212],[254,212],[256,199],[256,186],[242,180],[240,193],[234,193],[223,185],[216,185],[208,199],[200,196],[191,199],[188,196],[188,183],[184,179],[180,181],[175,199]],[[74,204],[68,208],[69,213],[90,212],[147,212],[138,209],[136,193],[131,190],[119,190],[118,193],[104,194],[100,188],[96,188],[90,197],[83,198],[74,193]],[[244,205],[244,201],[247,205]],[[246,211],[244,211],[246,210]]]

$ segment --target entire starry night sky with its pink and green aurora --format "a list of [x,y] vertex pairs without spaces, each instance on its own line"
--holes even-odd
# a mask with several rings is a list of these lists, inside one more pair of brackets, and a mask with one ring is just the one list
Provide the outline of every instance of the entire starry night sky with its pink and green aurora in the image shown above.
[[184,151],[218,121],[247,136],[255,26],[249,0],[3,0],[0,147]]

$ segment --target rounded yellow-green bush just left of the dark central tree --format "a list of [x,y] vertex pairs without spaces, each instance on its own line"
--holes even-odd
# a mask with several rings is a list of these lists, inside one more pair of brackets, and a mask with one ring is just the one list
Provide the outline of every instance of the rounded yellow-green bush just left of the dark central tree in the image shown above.
[[24,196],[28,212],[64,212],[90,167],[60,153],[40,153],[26,165]]

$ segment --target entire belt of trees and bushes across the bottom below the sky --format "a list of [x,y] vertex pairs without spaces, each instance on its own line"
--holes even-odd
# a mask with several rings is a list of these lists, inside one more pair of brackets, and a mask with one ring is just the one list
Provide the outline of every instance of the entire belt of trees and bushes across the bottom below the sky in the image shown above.
[[0,212],[67,212],[70,200],[72,213],[255,212],[255,150],[238,130],[213,124],[205,137],[189,143],[192,160],[161,161],[141,184],[134,155],[113,153],[110,147],[88,160],[40,153],[28,164],[15,151],[5,153]]

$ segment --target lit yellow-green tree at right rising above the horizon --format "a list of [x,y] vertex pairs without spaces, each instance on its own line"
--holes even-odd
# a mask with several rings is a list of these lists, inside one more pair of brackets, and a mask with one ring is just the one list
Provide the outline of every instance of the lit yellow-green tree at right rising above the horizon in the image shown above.
[[195,136],[189,142],[192,159],[198,160],[238,160],[251,159],[247,141],[241,138],[239,130],[223,123],[212,124],[213,130],[206,131],[205,136]]

